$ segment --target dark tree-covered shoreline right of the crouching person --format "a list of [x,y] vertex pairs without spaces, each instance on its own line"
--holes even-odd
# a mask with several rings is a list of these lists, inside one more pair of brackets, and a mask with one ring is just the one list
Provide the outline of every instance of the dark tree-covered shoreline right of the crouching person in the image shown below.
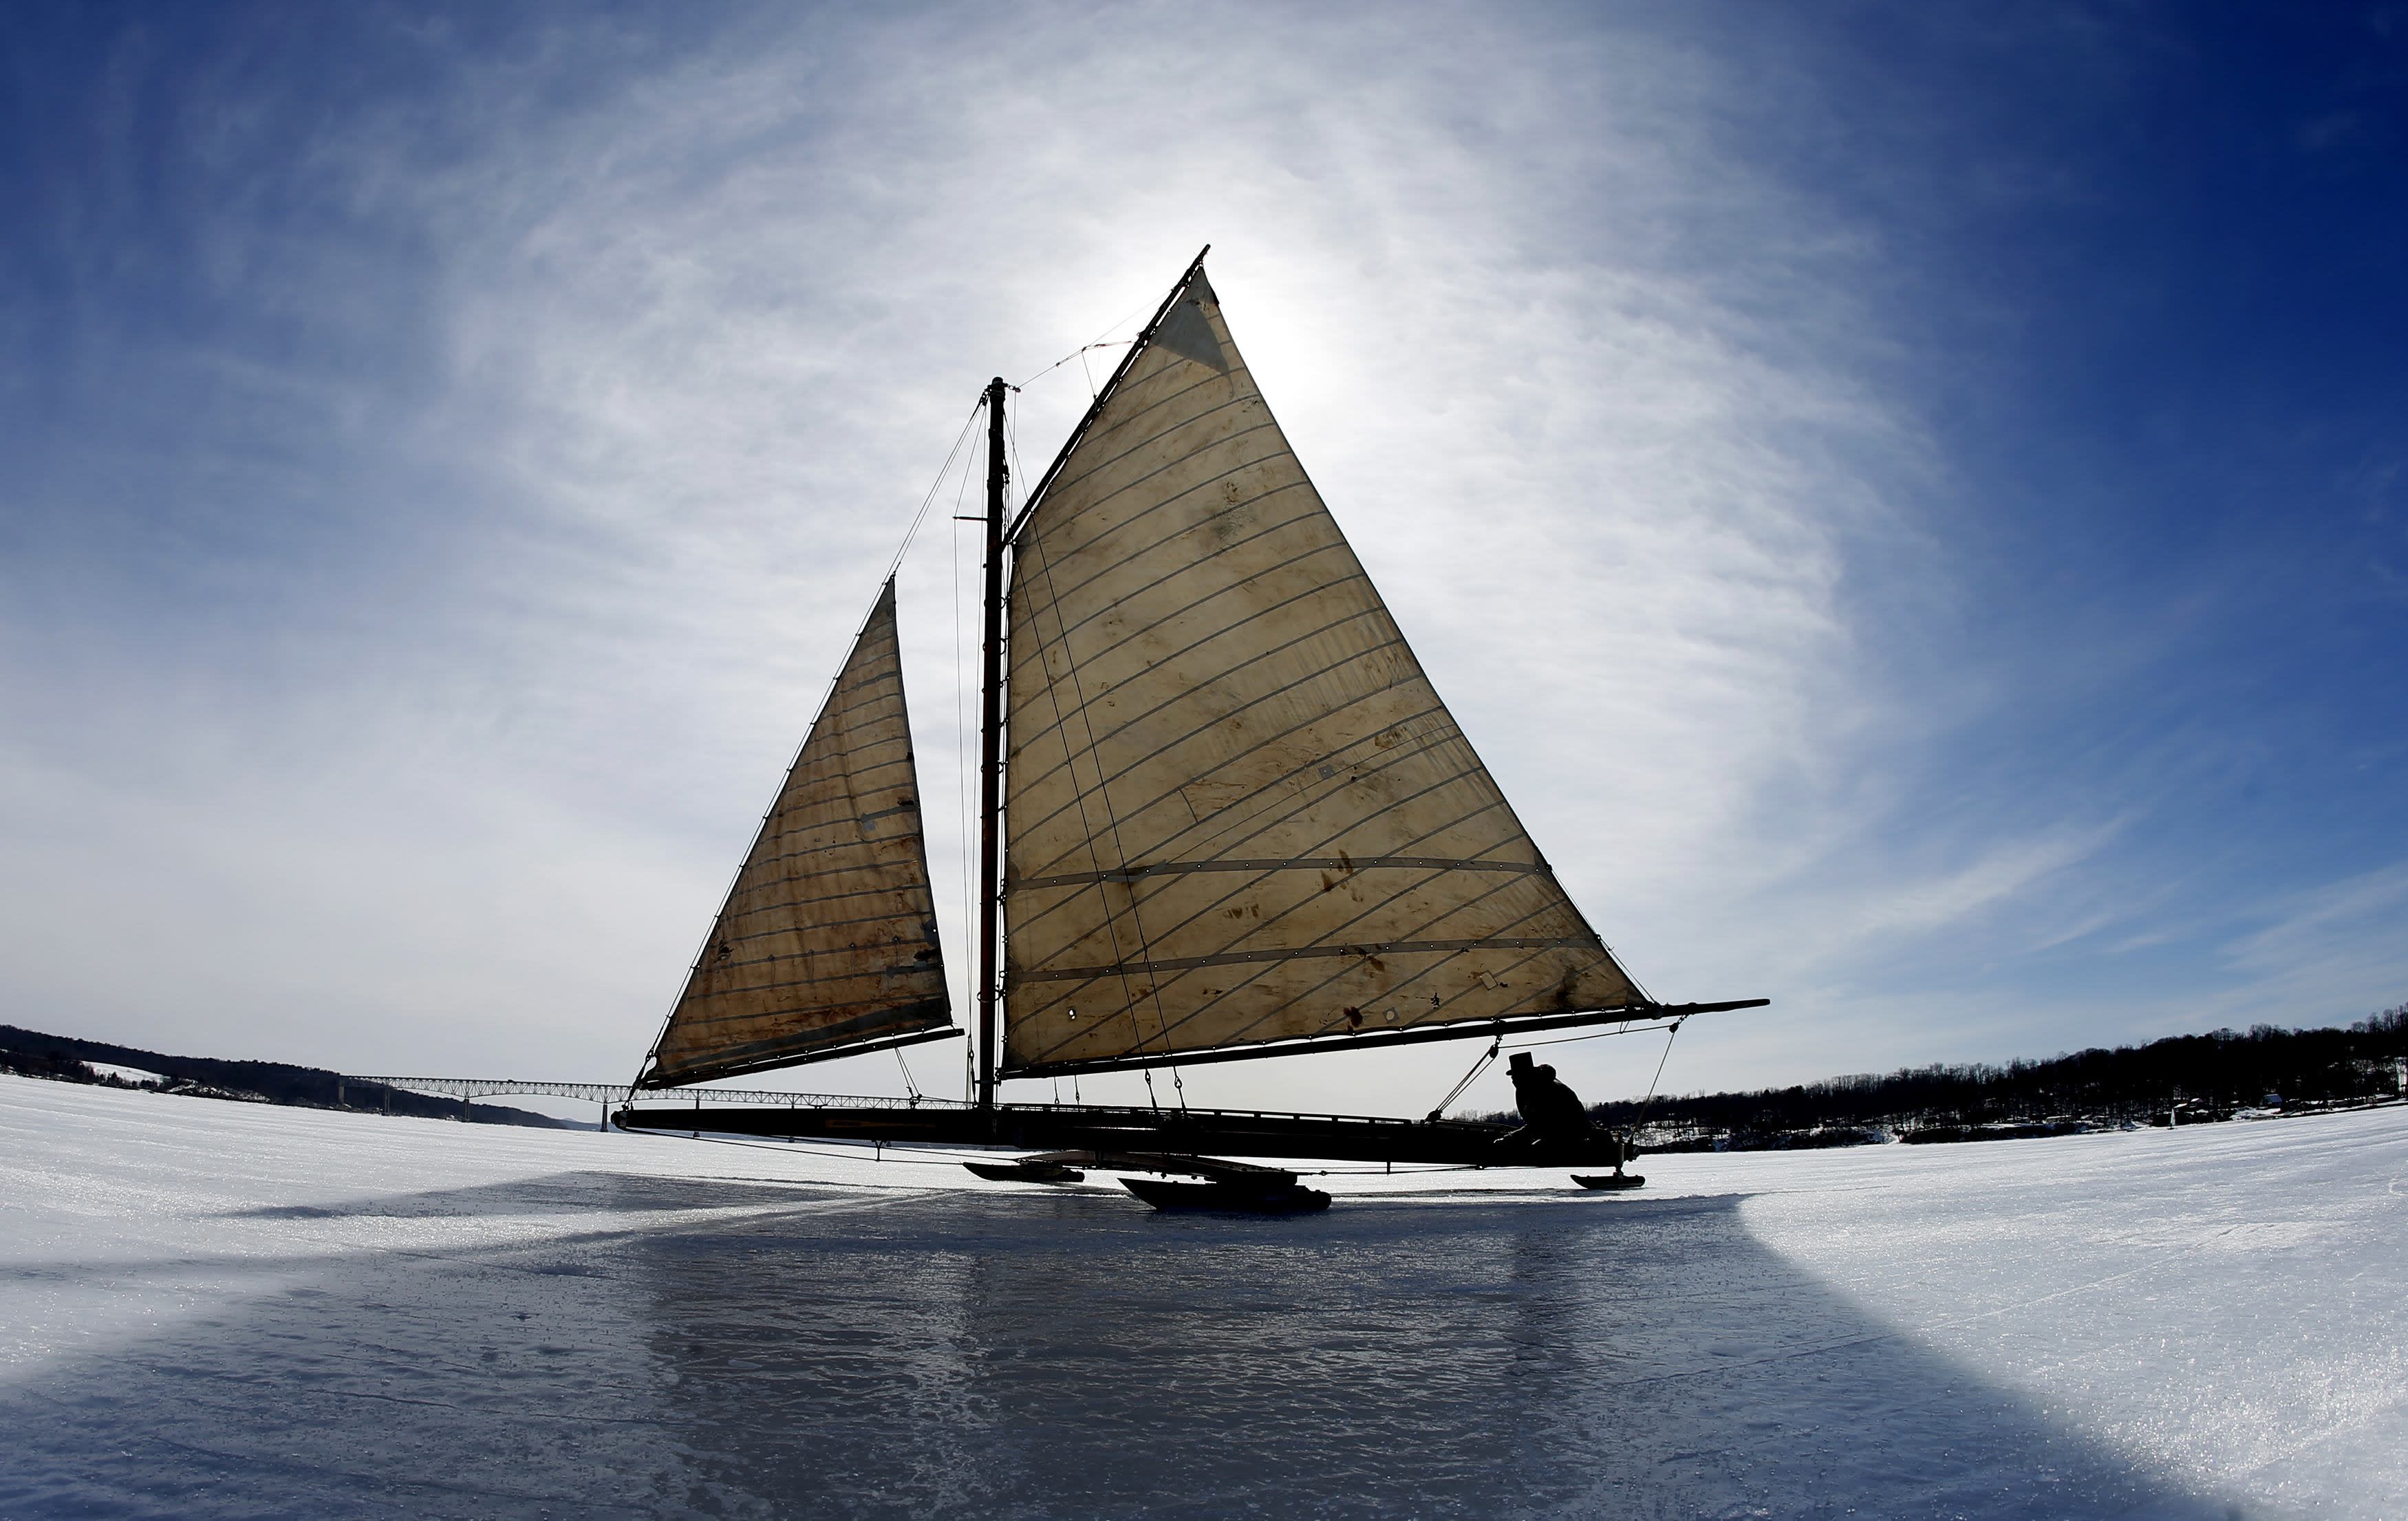
[[2348,1028],[2251,1025],[2174,1035],[2141,1047],[2088,1049],[2044,1061],[1910,1066],[1760,1088],[1693,1093],[1642,1105],[1589,1105],[1597,1124],[1640,1126],[1649,1150],[1849,1146],[1861,1141],[1975,1141],[2064,1134],[2112,1124],[2230,1119],[2278,1100],[2283,1109],[2360,1105],[2398,1095],[2408,1059],[2408,1004]]

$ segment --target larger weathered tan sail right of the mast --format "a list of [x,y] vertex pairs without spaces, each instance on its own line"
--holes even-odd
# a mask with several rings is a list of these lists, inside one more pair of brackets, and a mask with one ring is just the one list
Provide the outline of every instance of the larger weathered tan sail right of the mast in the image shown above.
[[1014,539],[1002,1066],[1642,1006],[1202,270]]

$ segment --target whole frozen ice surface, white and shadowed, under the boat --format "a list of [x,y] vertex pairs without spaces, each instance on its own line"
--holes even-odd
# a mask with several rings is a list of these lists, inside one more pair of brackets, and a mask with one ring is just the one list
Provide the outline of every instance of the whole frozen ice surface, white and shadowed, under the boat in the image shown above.
[[2408,1109],[1286,1220],[0,1078],[0,1516],[2398,1516]]

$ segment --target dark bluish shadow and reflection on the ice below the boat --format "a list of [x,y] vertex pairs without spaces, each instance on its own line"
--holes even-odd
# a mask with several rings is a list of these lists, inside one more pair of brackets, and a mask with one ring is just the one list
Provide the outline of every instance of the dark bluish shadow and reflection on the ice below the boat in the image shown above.
[[633,1227],[349,1259],[22,1391],[0,1514],[2194,1514],[1731,1199],[1226,1220],[573,1174],[373,1208]]

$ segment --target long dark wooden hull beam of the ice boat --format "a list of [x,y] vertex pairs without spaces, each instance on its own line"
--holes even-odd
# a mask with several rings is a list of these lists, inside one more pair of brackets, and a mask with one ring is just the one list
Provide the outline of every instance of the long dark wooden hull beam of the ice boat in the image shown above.
[[1572,1146],[1500,1148],[1512,1126],[1471,1119],[1375,1119],[1259,1109],[1134,1109],[1108,1105],[643,1105],[619,1109],[624,1129],[713,1131],[783,1141],[879,1141],[889,1146],[1007,1146],[1014,1150],[1112,1150],[1206,1158],[1315,1158],[1416,1167],[1616,1167],[1606,1131]]

